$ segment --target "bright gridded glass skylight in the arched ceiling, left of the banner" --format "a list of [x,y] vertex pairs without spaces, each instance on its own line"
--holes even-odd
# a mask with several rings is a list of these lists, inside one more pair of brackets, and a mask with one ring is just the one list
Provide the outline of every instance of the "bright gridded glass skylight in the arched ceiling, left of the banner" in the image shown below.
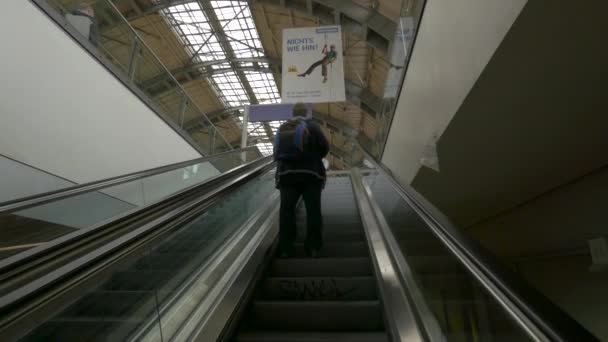
[[[255,58],[266,55],[253,22],[249,4],[246,1],[226,0],[210,1],[210,4],[224,34],[218,35],[213,31],[208,16],[197,1],[168,7],[162,13],[190,51],[192,62],[226,61],[226,63],[212,65],[211,68],[217,73],[209,78],[209,82],[226,108],[255,102],[259,104],[279,103],[281,97],[272,73],[254,71],[254,62],[229,63],[227,61],[228,56],[231,55],[236,58]],[[223,36],[226,38],[219,38]],[[261,68],[269,67],[267,63],[256,64]],[[237,73],[233,66],[249,68],[249,70]],[[248,88],[252,93],[247,92]],[[242,111],[239,113],[242,115]],[[276,132],[280,123],[270,122],[269,125],[273,132]],[[249,139],[256,141],[256,145],[262,153],[272,154],[272,142],[268,138],[263,124],[250,123],[248,131]]]

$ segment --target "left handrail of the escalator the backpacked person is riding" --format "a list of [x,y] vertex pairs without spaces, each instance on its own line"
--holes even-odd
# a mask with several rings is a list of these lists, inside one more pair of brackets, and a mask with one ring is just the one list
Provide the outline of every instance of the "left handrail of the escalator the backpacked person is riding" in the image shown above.
[[[142,224],[139,228],[131,231],[130,233],[111,240],[103,246],[93,251],[90,251],[87,254],[79,256],[77,259],[72,260],[67,264],[61,265],[59,268],[51,270],[50,272],[42,275],[41,277],[32,280],[26,286],[20,287],[11,293],[0,296],[0,313],[6,313],[7,310],[13,310],[15,306],[19,305],[19,303],[23,302],[24,300],[36,296],[37,294],[41,293],[41,291],[45,291],[46,289],[48,289],[51,285],[56,284],[62,279],[69,278],[72,274],[77,274],[83,268],[86,268],[88,265],[91,265],[94,262],[100,260],[100,258],[110,255],[111,253],[119,250],[120,248],[123,248],[129,243],[132,243],[133,241],[139,241],[138,239],[143,238],[145,235],[151,234],[153,231],[165,225],[167,222],[171,222],[174,218],[184,215],[184,213],[191,210],[192,208],[195,208],[201,203],[208,202],[216,196],[221,195],[225,191],[239,186],[242,182],[247,181],[249,178],[260,174],[261,172],[265,172],[265,170],[268,170],[273,163],[274,161],[271,157],[264,157],[262,159],[258,159],[257,161],[251,163],[252,165],[255,165],[253,169],[247,170],[246,172],[242,172],[236,177],[230,177],[226,181],[222,182],[213,191],[207,192],[199,198],[188,203],[182,203],[179,206],[171,209],[170,212],[163,214],[161,217],[155,218],[151,222]],[[221,178],[223,178],[222,176],[223,175],[220,175]],[[187,196],[187,193],[180,193],[173,197],[184,196]],[[142,210],[145,209],[141,209],[138,211]]]

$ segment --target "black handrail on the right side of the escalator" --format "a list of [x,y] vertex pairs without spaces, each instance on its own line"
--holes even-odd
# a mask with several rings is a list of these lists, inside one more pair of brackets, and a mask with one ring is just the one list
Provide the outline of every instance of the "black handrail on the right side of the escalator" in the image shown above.
[[420,215],[431,231],[492,296],[511,314],[515,315],[515,312],[519,312],[525,315],[525,317],[514,317],[524,329],[533,333],[540,332],[543,335],[540,336],[542,340],[599,342],[599,339],[570,315],[528,285],[478,242],[465,235],[447,216],[411,186],[400,184],[393,177],[392,172],[372,157],[358,142],[354,143],[376,170],[389,179],[401,198]]

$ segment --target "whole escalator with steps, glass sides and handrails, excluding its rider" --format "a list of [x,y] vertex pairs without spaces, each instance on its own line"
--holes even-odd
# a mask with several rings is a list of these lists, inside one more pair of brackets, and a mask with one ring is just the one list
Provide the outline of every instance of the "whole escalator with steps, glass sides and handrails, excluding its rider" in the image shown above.
[[304,252],[304,205],[296,253],[279,258],[273,164],[240,153],[221,175],[79,232],[95,239],[0,260],[2,336],[597,341],[373,160],[330,173],[319,258]]

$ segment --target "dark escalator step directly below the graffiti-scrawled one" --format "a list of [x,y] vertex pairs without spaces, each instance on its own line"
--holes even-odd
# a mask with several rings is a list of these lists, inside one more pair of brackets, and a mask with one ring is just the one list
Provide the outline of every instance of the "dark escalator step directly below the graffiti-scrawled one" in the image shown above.
[[247,330],[383,331],[380,301],[254,301]]

